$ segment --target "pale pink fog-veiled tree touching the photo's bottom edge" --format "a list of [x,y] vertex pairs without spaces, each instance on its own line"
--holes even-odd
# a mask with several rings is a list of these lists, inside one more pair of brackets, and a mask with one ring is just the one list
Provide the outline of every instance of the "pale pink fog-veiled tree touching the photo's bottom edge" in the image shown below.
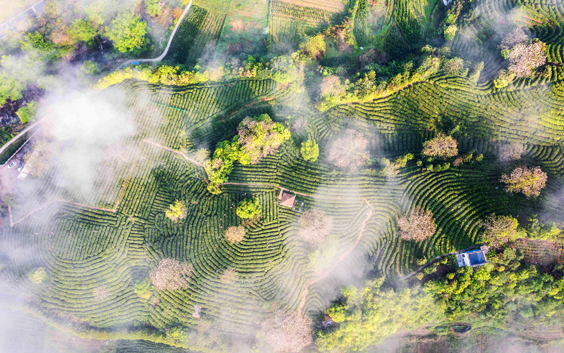
[[311,326],[307,317],[278,310],[264,321],[262,334],[276,352],[300,352],[312,343]]

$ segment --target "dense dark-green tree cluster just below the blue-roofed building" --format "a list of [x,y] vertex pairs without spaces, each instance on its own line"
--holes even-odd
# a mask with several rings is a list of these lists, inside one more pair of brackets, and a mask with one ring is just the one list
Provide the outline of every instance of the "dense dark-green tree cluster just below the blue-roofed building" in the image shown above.
[[564,281],[560,276],[537,271],[511,248],[492,253],[488,260],[479,269],[460,267],[446,278],[425,283],[427,292],[446,307],[447,319],[477,315],[486,324],[510,318],[548,321],[562,317]]

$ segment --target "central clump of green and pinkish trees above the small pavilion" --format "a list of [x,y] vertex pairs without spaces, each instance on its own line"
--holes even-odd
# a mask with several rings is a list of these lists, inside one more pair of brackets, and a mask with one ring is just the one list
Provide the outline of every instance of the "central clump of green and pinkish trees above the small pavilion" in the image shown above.
[[218,143],[212,158],[204,162],[209,192],[221,193],[219,185],[228,181],[235,161],[243,165],[256,164],[264,156],[276,153],[288,139],[290,130],[280,122],[273,122],[269,115],[245,117],[239,124],[238,134],[231,141]]

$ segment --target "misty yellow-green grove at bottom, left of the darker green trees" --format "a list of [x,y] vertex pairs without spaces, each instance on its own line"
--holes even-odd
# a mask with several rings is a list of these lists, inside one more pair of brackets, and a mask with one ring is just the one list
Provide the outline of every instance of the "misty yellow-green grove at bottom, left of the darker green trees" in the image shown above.
[[441,318],[443,307],[420,288],[396,292],[383,283],[384,278],[376,278],[365,288],[343,289],[343,300],[328,311],[340,326],[318,333],[322,350],[364,351],[398,330],[421,328]]

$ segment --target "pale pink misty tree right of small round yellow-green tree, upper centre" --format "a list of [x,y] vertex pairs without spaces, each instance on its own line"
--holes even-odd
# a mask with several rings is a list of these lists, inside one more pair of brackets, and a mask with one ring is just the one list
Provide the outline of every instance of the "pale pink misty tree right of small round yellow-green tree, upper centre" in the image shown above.
[[367,162],[368,157],[368,140],[353,129],[347,129],[345,135],[336,139],[329,150],[329,160],[341,168],[357,169]]

